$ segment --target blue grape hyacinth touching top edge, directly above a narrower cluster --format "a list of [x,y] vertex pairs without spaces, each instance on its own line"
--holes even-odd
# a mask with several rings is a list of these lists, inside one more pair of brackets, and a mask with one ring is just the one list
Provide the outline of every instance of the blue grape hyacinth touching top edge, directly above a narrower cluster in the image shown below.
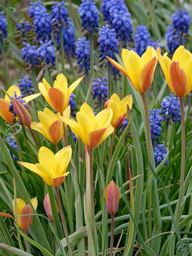
[[98,31],[98,9],[96,7],[96,3],[92,0],[82,0],[82,3],[78,9],[79,15],[82,20],[83,30]]

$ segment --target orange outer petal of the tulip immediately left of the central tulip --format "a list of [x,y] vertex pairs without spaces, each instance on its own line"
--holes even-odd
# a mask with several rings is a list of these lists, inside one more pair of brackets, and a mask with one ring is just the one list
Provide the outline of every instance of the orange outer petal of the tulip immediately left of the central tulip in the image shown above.
[[64,133],[62,121],[55,121],[51,126],[49,126],[48,132],[49,136],[52,138],[53,144],[58,144]]

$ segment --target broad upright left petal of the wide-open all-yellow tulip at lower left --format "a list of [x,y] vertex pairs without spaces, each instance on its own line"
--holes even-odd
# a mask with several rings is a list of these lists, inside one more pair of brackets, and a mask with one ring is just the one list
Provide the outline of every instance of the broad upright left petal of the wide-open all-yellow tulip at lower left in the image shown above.
[[47,147],[40,147],[39,163],[44,166],[49,166],[53,170],[57,167],[55,155]]

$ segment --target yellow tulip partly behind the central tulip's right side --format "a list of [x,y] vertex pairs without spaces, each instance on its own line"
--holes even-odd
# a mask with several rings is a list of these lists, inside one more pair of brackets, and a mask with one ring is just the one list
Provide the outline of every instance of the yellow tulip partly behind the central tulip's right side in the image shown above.
[[127,115],[127,105],[132,108],[132,95],[127,95],[122,100],[120,100],[117,94],[113,94],[108,101],[105,103],[105,108],[111,108],[113,111],[113,116],[111,119],[111,125],[116,129],[119,125],[122,125],[123,121]]

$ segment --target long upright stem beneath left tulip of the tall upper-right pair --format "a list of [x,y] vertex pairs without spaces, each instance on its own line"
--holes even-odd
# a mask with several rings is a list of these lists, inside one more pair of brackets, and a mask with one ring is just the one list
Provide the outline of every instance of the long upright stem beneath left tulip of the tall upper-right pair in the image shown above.
[[[148,155],[148,173],[147,177],[148,179],[150,178],[152,171],[151,171],[151,166],[152,166],[152,143],[151,143],[151,131],[150,131],[150,119],[148,118],[148,109],[147,109],[147,103],[146,103],[146,98],[145,98],[145,93],[141,94],[142,99],[143,99],[143,104],[144,104],[144,110],[145,110],[145,118],[146,118],[146,129],[147,129],[147,136],[146,136],[146,141],[147,141],[147,155]],[[147,209],[148,209],[148,237],[152,237],[152,211],[151,211],[151,206],[152,206],[152,184],[150,182],[148,186],[148,195],[147,195]]]

